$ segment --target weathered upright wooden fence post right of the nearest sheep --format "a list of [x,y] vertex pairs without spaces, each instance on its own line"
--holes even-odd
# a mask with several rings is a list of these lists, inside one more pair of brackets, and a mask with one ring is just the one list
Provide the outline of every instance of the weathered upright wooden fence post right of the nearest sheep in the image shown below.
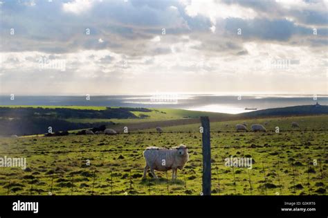
[[210,120],[201,116],[203,127],[203,195],[211,194],[211,165],[210,165]]

